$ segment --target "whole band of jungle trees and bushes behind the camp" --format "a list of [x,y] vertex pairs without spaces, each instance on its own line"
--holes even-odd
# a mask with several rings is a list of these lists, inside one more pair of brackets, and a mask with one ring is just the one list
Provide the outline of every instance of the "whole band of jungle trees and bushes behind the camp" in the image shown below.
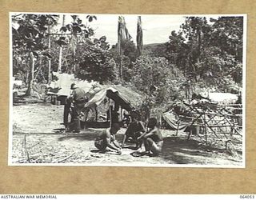
[[178,32],[170,30],[165,43],[140,46],[140,54],[130,37],[122,39],[122,54],[106,35],[96,38],[90,26],[98,20],[94,15],[84,22],[72,15],[62,26],[60,20],[55,14],[12,16],[13,72],[23,74],[28,91],[34,79],[46,80],[59,65],[62,73],[83,80],[134,88],[144,94],[148,108],[189,98],[188,86],[219,91],[242,86],[242,17],[187,17]]

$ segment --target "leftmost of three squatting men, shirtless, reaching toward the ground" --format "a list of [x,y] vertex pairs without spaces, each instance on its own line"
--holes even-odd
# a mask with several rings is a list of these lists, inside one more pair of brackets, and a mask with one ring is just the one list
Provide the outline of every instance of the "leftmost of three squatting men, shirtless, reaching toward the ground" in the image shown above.
[[98,150],[110,150],[122,154],[122,148],[115,139],[115,134],[120,130],[118,123],[114,123],[110,128],[103,130],[102,133],[95,139],[94,145]]

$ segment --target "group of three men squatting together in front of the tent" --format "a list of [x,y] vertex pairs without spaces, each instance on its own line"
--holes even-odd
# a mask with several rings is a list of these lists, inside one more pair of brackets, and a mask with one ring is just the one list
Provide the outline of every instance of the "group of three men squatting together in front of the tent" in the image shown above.
[[126,133],[122,138],[122,144],[115,138],[115,134],[120,130],[118,123],[113,123],[110,128],[102,131],[96,138],[94,145],[98,150],[110,150],[117,154],[122,154],[122,149],[125,146],[125,142],[131,139],[136,143],[135,150],[142,151],[142,145],[144,144],[145,151],[140,152],[141,155],[157,156],[162,152],[163,140],[162,134],[158,129],[158,121],[156,118],[150,118],[147,126],[143,125],[139,115],[132,116],[132,122],[130,122]]

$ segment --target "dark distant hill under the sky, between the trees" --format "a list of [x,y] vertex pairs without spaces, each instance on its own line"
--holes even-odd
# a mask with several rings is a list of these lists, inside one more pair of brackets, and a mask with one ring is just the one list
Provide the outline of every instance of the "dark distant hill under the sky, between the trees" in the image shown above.
[[142,54],[155,57],[165,57],[166,43],[154,43],[143,46]]

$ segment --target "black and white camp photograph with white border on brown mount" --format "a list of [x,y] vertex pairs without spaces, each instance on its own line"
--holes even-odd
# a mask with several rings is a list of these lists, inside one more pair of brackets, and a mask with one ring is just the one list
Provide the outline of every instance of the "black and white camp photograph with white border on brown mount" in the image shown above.
[[244,168],[246,14],[10,13],[10,166]]

